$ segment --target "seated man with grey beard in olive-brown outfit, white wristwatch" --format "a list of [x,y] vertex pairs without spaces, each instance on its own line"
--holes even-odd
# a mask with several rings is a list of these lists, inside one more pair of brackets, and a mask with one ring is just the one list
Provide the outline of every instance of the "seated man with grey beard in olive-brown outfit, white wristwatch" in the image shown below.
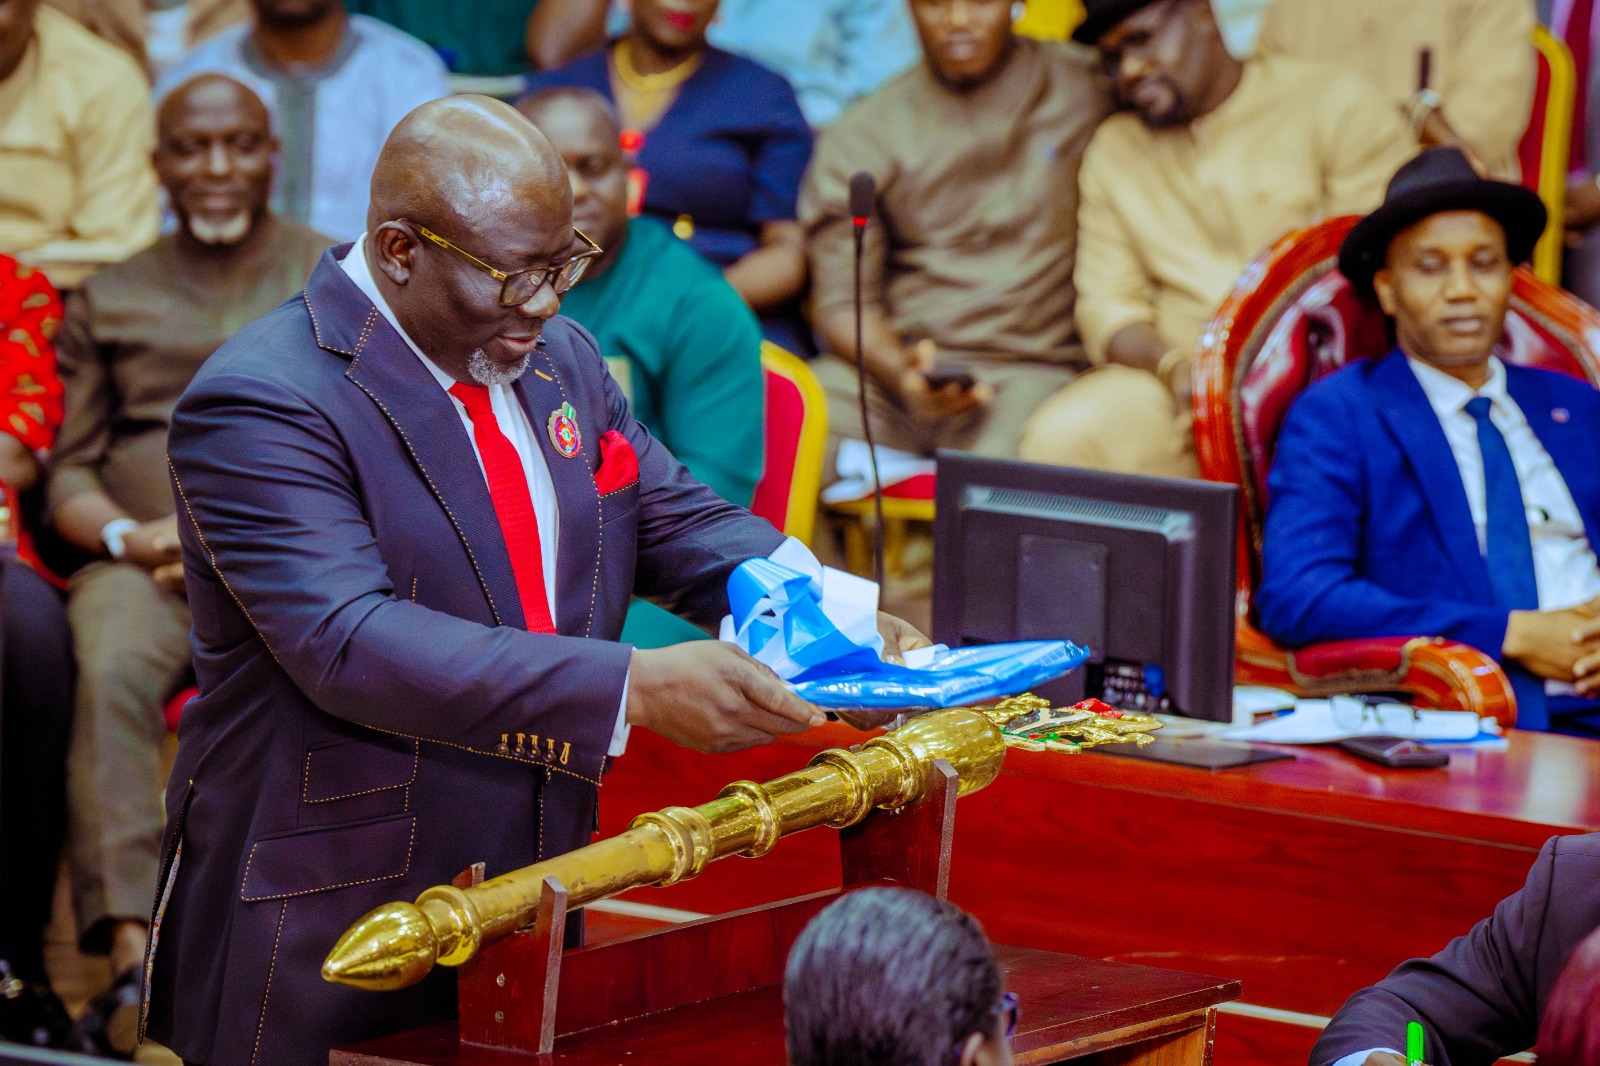
[[302,288],[330,243],[267,210],[277,141],[238,82],[176,86],[157,141],[179,227],[67,301],[50,479],[51,522],[96,557],[67,599],[82,679],[69,813],[80,946],[109,952],[115,975],[91,1007],[101,1021],[138,1004],[163,824],[162,704],[189,672],[168,419],[200,363]]

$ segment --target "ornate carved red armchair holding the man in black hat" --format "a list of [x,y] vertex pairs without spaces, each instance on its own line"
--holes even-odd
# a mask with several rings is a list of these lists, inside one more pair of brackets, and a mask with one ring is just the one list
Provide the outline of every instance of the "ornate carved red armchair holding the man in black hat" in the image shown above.
[[[1488,655],[1427,634],[1339,640],[1286,651],[1254,627],[1267,471],[1283,416],[1312,381],[1389,349],[1384,317],[1338,271],[1355,222],[1334,218],[1290,234],[1251,262],[1205,328],[1194,362],[1195,445],[1206,479],[1240,485],[1240,683],[1315,696],[1405,691],[1426,706],[1515,720],[1504,671]],[[1600,386],[1600,312],[1518,269],[1507,317],[1509,362]]]

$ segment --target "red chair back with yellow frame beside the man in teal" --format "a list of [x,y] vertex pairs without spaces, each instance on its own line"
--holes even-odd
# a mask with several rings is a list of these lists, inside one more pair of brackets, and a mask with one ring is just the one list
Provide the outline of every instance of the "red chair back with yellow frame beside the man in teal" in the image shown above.
[[810,544],[827,451],[827,397],[805,360],[771,341],[762,341],[762,375],[766,463],[750,511]]

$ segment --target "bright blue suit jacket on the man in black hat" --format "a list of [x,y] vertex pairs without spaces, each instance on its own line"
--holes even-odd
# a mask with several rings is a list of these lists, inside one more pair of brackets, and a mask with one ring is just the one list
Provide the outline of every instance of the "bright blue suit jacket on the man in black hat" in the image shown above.
[[[1510,365],[1506,389],[1600,547],[1600,392]],[[1494,607],[1445,431],[1398,351],[1299,395],[1267,491],[1254,602],[1269,637],[1296,648],[1440,635],[1499,656],[1507,611]]]

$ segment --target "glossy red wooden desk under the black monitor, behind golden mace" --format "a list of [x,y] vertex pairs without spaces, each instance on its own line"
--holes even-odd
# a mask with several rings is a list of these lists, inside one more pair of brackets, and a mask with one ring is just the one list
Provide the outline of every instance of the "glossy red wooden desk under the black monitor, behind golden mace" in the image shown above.
[[[829,725],[696,755],[638,730],[600,792],[602,831],[859,739]],[[1438,770],[1296,754],[1206,773],[1013,751],[1000,779],[960,804],[950,900],[998,943],[1240,978],[1246,1005],[1312,1018],[1226,1013],[1218,1063],[1283,1066],[1304,1061],[1315,1020],[1350,992],[1486,917],[1546,839],[1600,829],[1595,741],[1515,733],[1506,752]],[[718,914],[837,887],[835,840],[806,832],[760,863],[730,860],[626,900]]]

